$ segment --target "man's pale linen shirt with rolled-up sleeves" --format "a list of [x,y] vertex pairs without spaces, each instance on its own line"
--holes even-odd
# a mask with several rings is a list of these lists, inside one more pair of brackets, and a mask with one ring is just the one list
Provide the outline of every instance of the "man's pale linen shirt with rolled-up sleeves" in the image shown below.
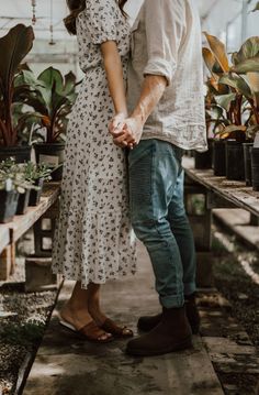
[[165,76],[168,86],[149,116],[142,139],[205,151],[201,25],[195,0],[145,0],[132,29],[128,109],[145,75]]

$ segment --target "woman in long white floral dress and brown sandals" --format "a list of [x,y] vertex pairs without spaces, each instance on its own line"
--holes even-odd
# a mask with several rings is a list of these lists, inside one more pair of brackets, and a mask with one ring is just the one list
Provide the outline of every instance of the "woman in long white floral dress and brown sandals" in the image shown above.
[[53,271],[77,281],[60,323],[97,342],[133,336],[100,308],[101,284],[136,270],[125,151],[108,131],[112,118],[120,125],[127,116],[131,28],[125,2],[68,0],[71,13],[65,19],[68,31],[77,34],[85,78],[67,132]]

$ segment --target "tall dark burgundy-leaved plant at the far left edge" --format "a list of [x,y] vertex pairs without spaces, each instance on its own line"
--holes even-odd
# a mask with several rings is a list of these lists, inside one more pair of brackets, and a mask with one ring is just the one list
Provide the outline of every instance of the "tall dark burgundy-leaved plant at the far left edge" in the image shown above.
[[0,39],[0,145],[19,143],[19,124],[13,122],[14,78],[19,66],[31,51],[34,41],[32,26],[18,24]]

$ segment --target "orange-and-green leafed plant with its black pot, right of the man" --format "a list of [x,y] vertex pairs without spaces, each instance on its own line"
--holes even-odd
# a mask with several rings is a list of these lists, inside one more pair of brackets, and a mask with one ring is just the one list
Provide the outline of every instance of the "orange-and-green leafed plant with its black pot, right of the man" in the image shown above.
[[[233,54],[230,65],[224,44],[215,36],[205,35],[210,48],[204,48],[203,56],[212,73],[215,100],[225,112],[221,136],[226,139],[226,176],[228,179],[244,179],[241,144],[249,141],[247,136],[251,120],[255,119],[258,124],[258,105],[252,78],[241,74],[247,73],[248,62],[254,65],[254,70],[258,65],[259,37],[248,39],[239,52]],[[222,86],[225,87],[224,94],[219,91]]]

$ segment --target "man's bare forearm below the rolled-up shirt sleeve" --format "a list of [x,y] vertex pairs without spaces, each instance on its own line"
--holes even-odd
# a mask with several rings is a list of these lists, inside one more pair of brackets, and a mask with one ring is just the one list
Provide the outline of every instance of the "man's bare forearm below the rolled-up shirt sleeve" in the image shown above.
[[161,99],[167,86],[162,76],[148,75],[145,77],[142,94],[131,118],[137,119],[143,125]]

